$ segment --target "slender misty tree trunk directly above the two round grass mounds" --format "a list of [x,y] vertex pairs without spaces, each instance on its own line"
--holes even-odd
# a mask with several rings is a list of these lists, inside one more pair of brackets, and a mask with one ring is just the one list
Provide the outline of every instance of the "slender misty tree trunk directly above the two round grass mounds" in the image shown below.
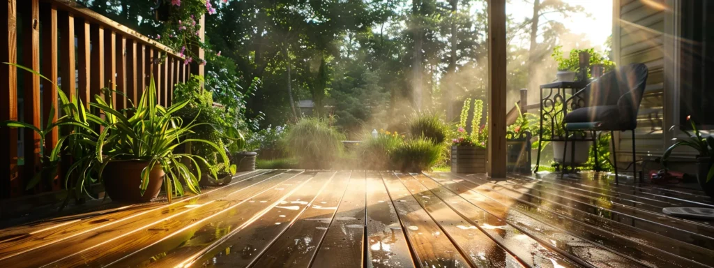
[[423,31],[420,14],[420,0],[412,1],[412,16],[413,16],[413,38],[414,38],[414,56],[411,65],[411,90],[414,109],[421,111],[423,83],[422,83],[422,49],[423,49]]

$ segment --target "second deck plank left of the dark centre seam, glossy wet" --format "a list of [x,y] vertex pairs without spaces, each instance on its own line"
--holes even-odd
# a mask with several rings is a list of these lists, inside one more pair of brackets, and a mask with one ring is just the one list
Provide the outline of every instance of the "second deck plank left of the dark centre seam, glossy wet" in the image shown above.
[[288,230],[268,248],[253,267],[308,267],[327,232],[350,179],[350,172],[338,172],[323,191]]

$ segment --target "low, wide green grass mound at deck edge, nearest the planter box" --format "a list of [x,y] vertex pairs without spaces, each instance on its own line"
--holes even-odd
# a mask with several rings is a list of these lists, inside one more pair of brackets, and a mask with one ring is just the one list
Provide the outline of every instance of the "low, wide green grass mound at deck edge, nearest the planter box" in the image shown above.
[[403,172],[420,172],[431,169],[441,158],[443,147],[430,139],[408,139],[391,152],[395,167]]

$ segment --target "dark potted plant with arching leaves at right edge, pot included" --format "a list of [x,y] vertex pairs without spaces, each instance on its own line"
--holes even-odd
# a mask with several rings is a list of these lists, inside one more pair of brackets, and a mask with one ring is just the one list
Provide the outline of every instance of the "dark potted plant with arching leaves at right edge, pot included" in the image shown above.
[[[694,120],[691,116],[687,116],[687,121],[692,125],[693,133],[686,131],[680,127],[680,131],[687,135],[686,139],[676,138],[675,144],[672,144],[662,155],[662,162],[667,166],[667,160],[675,148],[680,146],[690,147],[698,152],[697,155],[697,181],[701,185],[704,192],[707,193],[709,197],[714,197],[714,165],[712,162],[712,157],[714,156],[714,137],[703,137],[702,134],[697,129]],[[670,131],[674,129],[675,126],[670,128]]]

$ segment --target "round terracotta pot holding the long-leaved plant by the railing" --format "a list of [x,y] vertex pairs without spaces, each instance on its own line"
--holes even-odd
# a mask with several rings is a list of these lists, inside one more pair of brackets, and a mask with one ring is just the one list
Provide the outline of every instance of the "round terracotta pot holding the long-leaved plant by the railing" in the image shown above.
[[141,195],[141,171],[149,166],[148,161],[115,160],[106,164],[101,178],[104,181],[106,194],[111,200],[122,203],[150,202],[159,196],[161,185],[164,184],[164,169],[161,164],[155,164],[149,174],[149,185],[144,195]]

